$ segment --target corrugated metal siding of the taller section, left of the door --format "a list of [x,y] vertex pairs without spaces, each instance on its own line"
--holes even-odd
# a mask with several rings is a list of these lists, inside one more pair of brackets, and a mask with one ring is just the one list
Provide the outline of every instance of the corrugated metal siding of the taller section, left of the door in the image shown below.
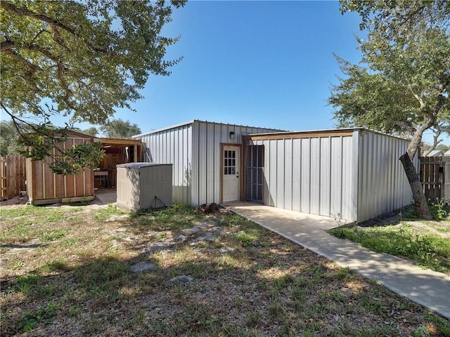
[[174,164],[174,201],[198,206],[221,202],[221,143],[241,145],[242,136],[275,131],[195,120],[136,138],[146,143],[155,163]]

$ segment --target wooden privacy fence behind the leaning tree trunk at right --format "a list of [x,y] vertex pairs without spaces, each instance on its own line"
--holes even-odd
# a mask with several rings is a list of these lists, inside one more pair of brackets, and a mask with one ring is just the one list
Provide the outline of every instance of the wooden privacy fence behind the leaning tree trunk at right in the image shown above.
[[450,202],[450,157],[420,157],[420,182],[432,202]]

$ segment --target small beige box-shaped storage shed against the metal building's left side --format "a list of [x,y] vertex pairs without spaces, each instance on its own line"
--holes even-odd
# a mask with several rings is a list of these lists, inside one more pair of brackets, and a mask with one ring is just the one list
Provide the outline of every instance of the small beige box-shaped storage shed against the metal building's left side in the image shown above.
[[172,164],[117,165],[116,204],[131,211],[172,204]]

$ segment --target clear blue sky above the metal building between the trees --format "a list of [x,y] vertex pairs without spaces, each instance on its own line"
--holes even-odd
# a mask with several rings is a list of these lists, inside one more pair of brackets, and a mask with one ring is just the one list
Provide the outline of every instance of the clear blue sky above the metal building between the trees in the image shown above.
[[169,77],[150,77],[144,99],[131,104],[136,112],[118,110],[114,118],[143,133],[191,119],[291,131],[334,127],[326,105],[340,74],[333,53],[358,62],[354,35],[363,36],[359,16],[342,15],[338,1],[191,0],[172,18],[162,34],[180,39],[167,60],[184,60]]

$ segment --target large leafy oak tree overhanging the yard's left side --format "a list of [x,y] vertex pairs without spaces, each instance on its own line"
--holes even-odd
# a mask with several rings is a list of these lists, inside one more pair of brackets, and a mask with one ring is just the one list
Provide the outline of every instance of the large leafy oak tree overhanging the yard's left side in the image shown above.
[[[176,38],[161,29],[184,1],[0,1],[1,109],[20,139],[53,169],[74,173],[95,166],[99,145],[65,150],[58,144],[72,123],[103,124],[117,108],[131,109],[150,75],[169,75],[181,58],[165,60]],[[52,114],[69,119],[63,128]],[[24,128],[25,126],[25,128]],[[32,131],[32,132],[28,132]],[[73,165],[67,161],[72,160]],[[66,164],[64,164],[66,161]],[[58,169],[60,166],[60,169]]]

